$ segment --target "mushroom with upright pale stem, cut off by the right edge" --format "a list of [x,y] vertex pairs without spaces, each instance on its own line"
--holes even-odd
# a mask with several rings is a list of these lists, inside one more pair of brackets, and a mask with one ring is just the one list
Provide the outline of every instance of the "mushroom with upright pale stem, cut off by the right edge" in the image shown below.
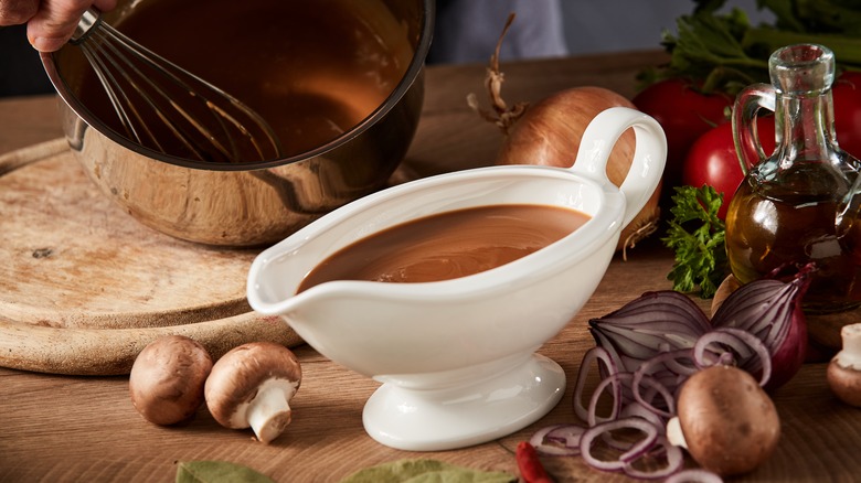
[[826,378],[843,402],[861,407],[861,323],[840,329],[843,347],[828,363]]

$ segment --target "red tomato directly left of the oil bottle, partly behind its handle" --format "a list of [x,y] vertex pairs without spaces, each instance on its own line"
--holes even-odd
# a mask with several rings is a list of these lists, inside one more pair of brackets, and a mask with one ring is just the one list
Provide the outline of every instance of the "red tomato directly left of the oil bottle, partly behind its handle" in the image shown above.
[[[757,118],[757,131],[766,155],[774,152],[774,119]],[[733,143],[731,122],[719,125],[699,137],[684,159],[683,184],[695,187],[708,184],[718,193],[723,193],[723,204],[718,212],[721,219],[726,218],[726,206],[743,179],[744,173]]]

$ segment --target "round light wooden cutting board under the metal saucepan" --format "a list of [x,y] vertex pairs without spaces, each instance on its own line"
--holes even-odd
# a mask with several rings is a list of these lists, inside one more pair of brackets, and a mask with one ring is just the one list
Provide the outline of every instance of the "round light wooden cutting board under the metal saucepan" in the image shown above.
[[104,196],[64,139],[0,157],[0,366],[127,374],[159,335],[214,357],[249,341],[301,343],[245,299],[259,250],[157,233]]

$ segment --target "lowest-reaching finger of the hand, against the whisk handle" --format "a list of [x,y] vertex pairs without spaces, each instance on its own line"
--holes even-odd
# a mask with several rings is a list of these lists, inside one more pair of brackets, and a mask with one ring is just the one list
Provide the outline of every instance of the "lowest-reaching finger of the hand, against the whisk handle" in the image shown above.
[[59,50],[68,42],[81,15],[91,4],[93,0],[44,0],[26,24],[30,44],[40,52]]

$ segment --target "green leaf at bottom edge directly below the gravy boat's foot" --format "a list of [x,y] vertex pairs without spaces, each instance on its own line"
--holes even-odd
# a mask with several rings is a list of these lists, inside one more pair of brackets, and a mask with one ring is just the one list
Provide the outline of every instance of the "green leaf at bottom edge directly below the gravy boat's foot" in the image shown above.
[[517,477],[501,471],[480,471],[437,460],[407,459],[365,468],[341,483],[511,483]]

